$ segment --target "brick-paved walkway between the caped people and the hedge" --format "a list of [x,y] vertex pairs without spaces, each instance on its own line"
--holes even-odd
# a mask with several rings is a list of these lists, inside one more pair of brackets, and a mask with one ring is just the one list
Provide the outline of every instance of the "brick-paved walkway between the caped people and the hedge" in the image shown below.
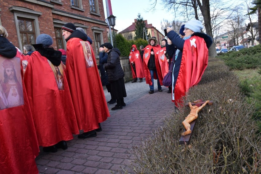
[[[156,84],[156,85],[155,85]],[[112,111],[115,106],[108,105],[111,117],[101,123],[102,131],[89,139],[67,142],[68,149],[58,149],[56,153],[45,153],[40,148],[36,157],[39,173],[44,174],[120,174],[122,168],[134,173],[129,167],[134,159],[131,147],[141,144],[142,138],[151,136],[174,111],[168,88],[162,86],[157,90],[154,80],[154,94],[149,94],[149,85],[142,83],[125,83],[127,97],[123,109]],[[107,89],[106,100],[110,100]]]

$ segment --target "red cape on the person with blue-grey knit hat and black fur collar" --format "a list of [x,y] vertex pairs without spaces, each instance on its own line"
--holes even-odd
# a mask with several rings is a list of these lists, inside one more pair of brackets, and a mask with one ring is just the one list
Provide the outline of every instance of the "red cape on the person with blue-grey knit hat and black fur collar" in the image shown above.
[[[59,68],[60,76],[56,72]],[[79,134],[64,65],[51,64],[34,51],[25,72],[25,87],[32,110],[39,146],[52,146]]]

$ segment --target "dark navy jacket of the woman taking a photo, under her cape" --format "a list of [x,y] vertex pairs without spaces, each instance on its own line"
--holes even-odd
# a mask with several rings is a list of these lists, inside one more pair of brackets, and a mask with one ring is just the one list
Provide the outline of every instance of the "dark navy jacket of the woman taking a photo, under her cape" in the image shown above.
[[[209,48],[211,46],[212,39],[210,36],[206,35],[205,33],[200,33],[200,32],[195,32],[191,36],[194,36],[194,35],[203,38],[206,42],[207,48]],[[175,67],[172,72],[173,76],[174,76],[173,86],[175,86],[178,75],[179,75],[179,71],[180,71],[182,51],[183,51],[183,46],[184,46],[185,40],[182,39],[175,31],[169,31],[167,37],[168,37],[168,39],[171,40],[172,44],[171,45],[166,44],[166,51],[167,51],[168,55],[172,56],[173,60],[175,59],[176,50],[177,49],[180,50],[178,57],[176,59],[176,62],[175,62]]]

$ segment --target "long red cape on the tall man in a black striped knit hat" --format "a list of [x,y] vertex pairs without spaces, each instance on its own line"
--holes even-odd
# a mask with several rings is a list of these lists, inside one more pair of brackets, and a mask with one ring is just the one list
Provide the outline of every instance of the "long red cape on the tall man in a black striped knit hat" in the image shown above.
[[[91,54],[87,53],[85,44],[91,50]],[[98,123],[110,117],[110,113],[92,47],[88,41],[71,38],[66,49],[66,77],[78,128],[85,132],[97,129]],[[90,60],[93,63],[90,64]]]

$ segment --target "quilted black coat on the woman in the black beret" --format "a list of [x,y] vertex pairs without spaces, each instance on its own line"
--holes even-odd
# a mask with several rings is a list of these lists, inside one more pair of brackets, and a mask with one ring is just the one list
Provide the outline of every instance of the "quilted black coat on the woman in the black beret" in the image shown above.
[[108,52],[108,61],[103,68],[108,72],[109,82],[115,82],[124,77],[124,72],[120,64],[120,51],[118,48],[112,48]]

